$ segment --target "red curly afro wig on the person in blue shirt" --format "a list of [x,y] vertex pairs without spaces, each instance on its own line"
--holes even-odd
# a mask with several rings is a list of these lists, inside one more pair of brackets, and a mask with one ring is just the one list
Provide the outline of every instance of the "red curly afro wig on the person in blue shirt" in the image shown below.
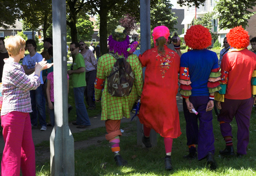
[[192,25],[187,30],[184,40],[186,45],[194,50],[202,50],[212,45],[212,35],[209,29],[202,25]]

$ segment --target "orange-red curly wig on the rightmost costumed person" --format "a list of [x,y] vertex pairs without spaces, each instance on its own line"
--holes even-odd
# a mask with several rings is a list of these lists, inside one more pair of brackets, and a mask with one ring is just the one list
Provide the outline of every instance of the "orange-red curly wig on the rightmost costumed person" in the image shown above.
[[230,46],[236,49],[246,48],[250,43],[248,32],[241,25],[230,29],[226,37]]

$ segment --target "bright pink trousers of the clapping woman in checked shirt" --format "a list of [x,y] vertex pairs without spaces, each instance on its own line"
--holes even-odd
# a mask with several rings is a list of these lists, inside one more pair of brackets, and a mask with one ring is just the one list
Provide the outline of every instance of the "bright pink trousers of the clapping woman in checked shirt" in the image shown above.
[[4,152],[1,176],[35,176],[35,146],[29,113],[12,111],[1,116]]

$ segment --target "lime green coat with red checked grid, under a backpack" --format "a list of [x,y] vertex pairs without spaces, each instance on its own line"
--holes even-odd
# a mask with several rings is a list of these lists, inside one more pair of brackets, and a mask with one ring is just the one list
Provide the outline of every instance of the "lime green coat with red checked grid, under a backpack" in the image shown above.
[[120,120],[123,117],[130,118],[130,111],[134,103],[141,96],[143,87],[142,67],[137,55],[132,54],[127,58],[134,73],[132,92],[126,97],[111,96],[107,91],[107,76],[112,71],[116,59],[110,54],[104,54],[98,60],[97,79],[105,80],[104,90],[95,88],[95,99],[102,98],[101,120]]

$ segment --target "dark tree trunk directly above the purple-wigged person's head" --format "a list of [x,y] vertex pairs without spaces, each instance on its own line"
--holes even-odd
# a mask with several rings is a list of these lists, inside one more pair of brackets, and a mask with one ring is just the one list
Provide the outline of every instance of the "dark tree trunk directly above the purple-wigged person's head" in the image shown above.
[[101,42],[101,54],[108,53],[107,50],[107,1],[100,1],[100,42]]

